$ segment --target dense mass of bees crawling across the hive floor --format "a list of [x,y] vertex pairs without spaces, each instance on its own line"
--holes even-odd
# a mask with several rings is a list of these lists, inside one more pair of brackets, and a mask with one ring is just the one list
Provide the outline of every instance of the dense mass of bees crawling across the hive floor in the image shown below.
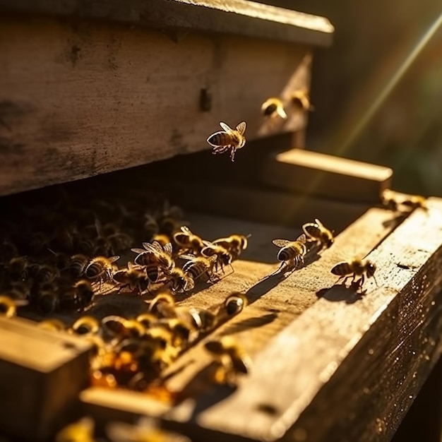
[[[117,196],[112,204],[58,197],[53,206],[27,205],[18,222],[7,216],[2,221],[0,310],[11,317],[28,304],[44,315],[80,315],[71,325],[50,318],[40,326],[92,342],[93,383],[145,390],[179,354],[246,305],[244,295],[235,293],[210,309],[179,306],[175,299],[225,277],[246,249],[247,236],[203,239],[186,226],[182,210],[167,202],[141,210],[142,200],[135,208]],[[142,248],[134,247],[138,241]],[[92,316],[89,310],[106,297],[103,288],[145,295],[143,313]],[[247,371],[239,345],[221,339],[206,349],[215,381],[233,383]]]

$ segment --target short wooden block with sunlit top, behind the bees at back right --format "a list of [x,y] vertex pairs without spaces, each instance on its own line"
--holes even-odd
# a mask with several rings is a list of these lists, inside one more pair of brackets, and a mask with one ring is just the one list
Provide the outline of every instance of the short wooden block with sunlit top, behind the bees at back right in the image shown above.
[[261,172],[263,182],[280,189],[371,203],[391,188],[393,177],[390,167],[304,149],[270,155]]

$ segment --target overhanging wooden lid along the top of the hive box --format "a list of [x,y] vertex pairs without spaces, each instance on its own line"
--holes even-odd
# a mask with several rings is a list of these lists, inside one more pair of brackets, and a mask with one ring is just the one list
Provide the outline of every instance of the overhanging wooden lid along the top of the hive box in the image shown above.
[[1,0],[0,11],[112,20],[138,27],[202,30],[286,42],[329,45],[323,17],[244,0]]

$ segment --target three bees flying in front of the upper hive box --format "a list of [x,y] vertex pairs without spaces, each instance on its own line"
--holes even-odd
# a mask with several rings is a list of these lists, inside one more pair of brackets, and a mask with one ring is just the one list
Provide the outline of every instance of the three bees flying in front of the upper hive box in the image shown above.
[[[310,103],[309,94],[305,89],[294,90],[289,97],[289,102],[284,104],[278,97],[270,97],[261,105],[261,114],[270,119],[273,123],[278,119],[287,119],[287,106],[294,112],[306,112],[313,110]],[[244,148],[246,144],[246,121],[241,121],[235,129],[220,121],[222,131],[212,133],[207,142],[212,146],[213,155],[230,151],[230,160],[235,160],[235,153],[238,149]]]

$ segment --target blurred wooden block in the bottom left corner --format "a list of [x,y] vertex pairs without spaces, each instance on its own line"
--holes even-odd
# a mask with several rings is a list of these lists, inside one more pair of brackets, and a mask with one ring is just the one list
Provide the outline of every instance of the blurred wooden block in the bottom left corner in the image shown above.
[[90,344],[21,318],[0,317],[0,427],[47,440],[66,422],[88,384]]

